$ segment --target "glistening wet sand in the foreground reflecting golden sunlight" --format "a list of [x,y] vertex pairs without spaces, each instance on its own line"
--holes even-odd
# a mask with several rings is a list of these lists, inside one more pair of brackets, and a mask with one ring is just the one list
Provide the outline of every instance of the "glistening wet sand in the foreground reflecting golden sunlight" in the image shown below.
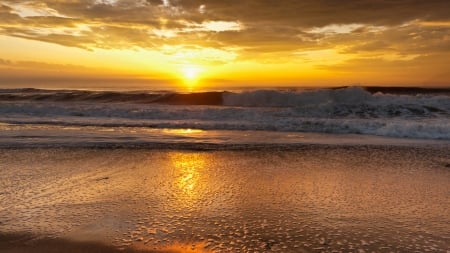
[[442,146],[1,149],[0,251],[448,252],[449,164]]

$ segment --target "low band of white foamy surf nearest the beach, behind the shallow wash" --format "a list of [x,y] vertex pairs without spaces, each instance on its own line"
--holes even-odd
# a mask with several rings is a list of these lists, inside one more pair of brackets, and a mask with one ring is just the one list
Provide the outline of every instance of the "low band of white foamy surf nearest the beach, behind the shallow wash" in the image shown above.
[[139,119],[48,117],[48,118],[0,118],[9,124],[40,124],[60,126],[100,126],[110,128],[141,127],[168,129],[203,130],[263,130],[281,132],[318,132],[330,134],[365,134],[399,138],[450,140],[449,119],[348,119],[348,118],[284,118],[274,117],[251,119]]

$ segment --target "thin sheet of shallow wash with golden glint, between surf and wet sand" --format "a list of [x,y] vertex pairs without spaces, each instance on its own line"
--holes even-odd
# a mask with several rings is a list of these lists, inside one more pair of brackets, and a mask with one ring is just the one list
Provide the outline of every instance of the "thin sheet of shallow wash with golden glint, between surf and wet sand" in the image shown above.
[[[68,131],[68,132],[65,132]],[[148,150],[297,150],[307,147],[419,147],[450,149],[450,140],[395,138],[364,134],[127,128],[126,133],[102,136],[109,128],[56,131],[17,130],[0,136],[0,149],[87,148]],[[140,132],[139,132],[140,131]],[[137,133],[138,132],[138,133]],[[54,136],[55,133],[58,136]],[[129,133],[129,135],[128,135]],[[75,135],[70,135],[75,134]],[[70,136],[69,136],[70,135]],[[96,137],[97,135],[101,137]],[[269,141],[267,141],[269,140]]]

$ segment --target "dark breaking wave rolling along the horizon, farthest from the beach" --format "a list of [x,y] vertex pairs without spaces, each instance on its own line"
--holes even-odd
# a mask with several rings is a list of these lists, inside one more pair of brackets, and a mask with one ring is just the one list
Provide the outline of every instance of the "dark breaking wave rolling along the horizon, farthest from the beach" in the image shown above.
[[430,97],[448,99],[450,89],[346,87],[339,89],[251,90],[177,93],[170,91],[89,91],[0,89],[0,101],[156,103],[246,107],[301,107],[325,104],[415,103]]

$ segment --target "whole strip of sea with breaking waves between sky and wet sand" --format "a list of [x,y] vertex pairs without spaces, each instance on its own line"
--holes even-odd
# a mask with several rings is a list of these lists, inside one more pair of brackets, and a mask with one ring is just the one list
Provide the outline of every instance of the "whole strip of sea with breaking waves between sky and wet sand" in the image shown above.
[[450,90],[0,90],[4,147],[231,147],[368,138],[449,141]]

